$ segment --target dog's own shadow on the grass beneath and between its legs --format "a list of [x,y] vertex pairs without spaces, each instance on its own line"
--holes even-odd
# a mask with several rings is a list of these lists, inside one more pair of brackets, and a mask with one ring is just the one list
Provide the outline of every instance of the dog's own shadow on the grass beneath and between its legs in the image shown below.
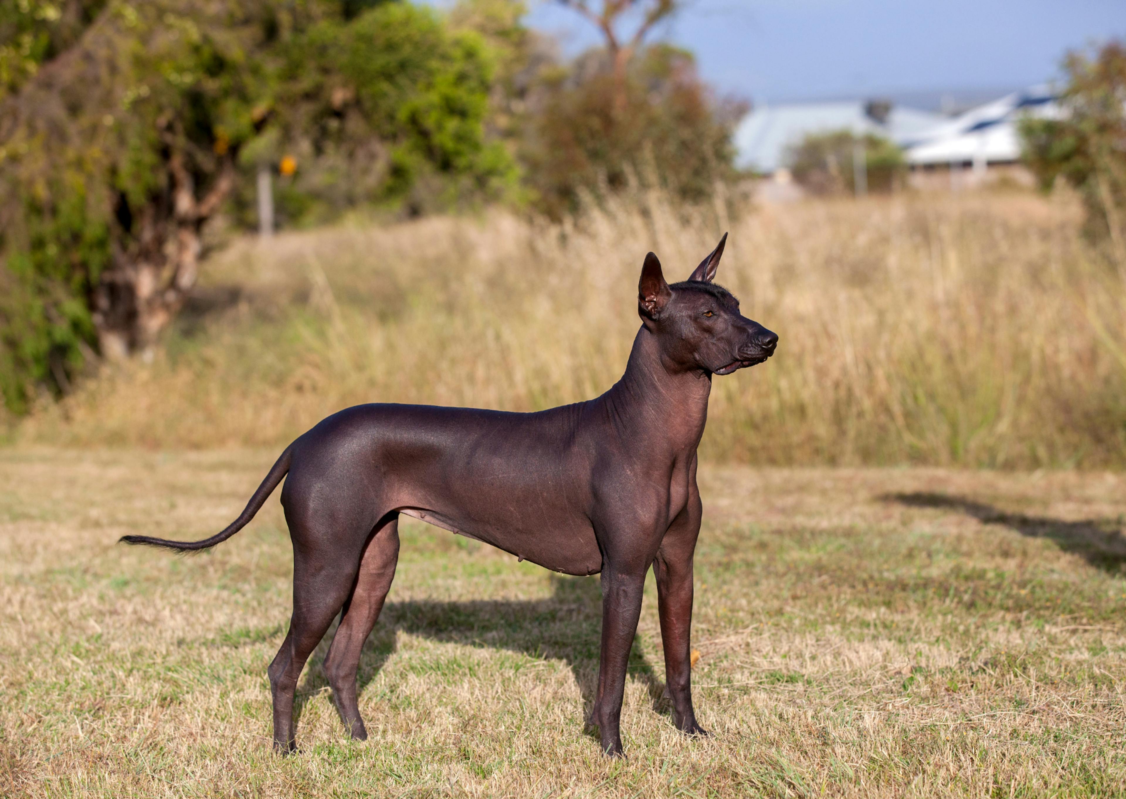
[[[563,660],[571,668],[589,718],[598,681],[598,652],[602,627],[602,593],[597,577],[552,576],[553,593],[544,600],[482,600],[388,602],[372,631],[357,674],[363,694],[397,648],[400,632],[435,641],[465,643],[521,652],[535,658]],[[294,704],[294,721],[314,694],[328,689],[322,665],[336,627],[324,636],[309,659],[304,683]],[[664,683],[634,643],[629,677],[642,682],[653,710],[669,714]],[[588,725],[588,734],[593,735]]]

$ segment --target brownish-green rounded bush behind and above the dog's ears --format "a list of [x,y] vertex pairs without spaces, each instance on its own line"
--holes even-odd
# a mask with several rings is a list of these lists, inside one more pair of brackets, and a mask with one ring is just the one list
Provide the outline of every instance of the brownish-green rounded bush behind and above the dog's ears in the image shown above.
[[606,52],[593,51],[570,69],[546,70],[530,103],[521,154],[552,215],[572,211],[583,192],[633,179],[700,201],[733,175],[731,135],[744,106],[716,101],[682,50],[645,47],[624,83]]

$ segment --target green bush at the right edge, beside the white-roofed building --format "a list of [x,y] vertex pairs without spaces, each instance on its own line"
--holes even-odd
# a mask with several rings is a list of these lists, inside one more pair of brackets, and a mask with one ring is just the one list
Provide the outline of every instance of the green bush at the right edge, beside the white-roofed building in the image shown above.
[[1056,178],[1079,189],[1089,230],[1109,234],[1126,263],[1126,44],[1070,53],[1064,69],[1063,115],[1021,123],[1025,162],[1045,189]]

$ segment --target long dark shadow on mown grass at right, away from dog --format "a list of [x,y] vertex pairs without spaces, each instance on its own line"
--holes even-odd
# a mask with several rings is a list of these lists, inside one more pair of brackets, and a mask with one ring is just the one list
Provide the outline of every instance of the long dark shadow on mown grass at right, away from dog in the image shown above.
[[1126,536],[1123,535],[1121,518],[1066,522],[1049,516],[1026,516],[946,494],[888,494],[881,499],[910,507],[957,511],[982,524],[1003,524],[1031,539],[1049,539],[1063,551],[1074,552],[1103,571],[1118,575],[1126,568]]

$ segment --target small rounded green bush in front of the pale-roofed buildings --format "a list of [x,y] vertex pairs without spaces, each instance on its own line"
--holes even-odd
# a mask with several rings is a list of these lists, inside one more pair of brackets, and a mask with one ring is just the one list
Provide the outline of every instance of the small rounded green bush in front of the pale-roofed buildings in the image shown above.
[[812,133],[787,153],[794,179],[814,194],[856,192],[854,158],[863,148],[868,170],[869,192],[891,192],[906,169],[903,151],[874,133],[857,135],[852,131]]

